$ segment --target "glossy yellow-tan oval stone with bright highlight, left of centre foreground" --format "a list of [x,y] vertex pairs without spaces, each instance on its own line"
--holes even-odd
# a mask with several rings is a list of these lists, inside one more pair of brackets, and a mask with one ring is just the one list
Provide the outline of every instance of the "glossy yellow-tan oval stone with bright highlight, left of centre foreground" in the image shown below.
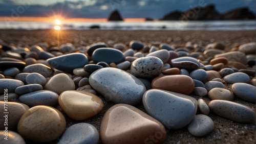
[[103,108],[102,100],[86,91],[64,91],[59,95],[58,102],[63,111],[76,121],[90,118]]

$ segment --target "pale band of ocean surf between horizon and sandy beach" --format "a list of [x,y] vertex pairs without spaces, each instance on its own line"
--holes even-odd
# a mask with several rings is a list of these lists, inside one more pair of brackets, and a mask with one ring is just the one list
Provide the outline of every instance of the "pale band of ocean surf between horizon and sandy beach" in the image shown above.
[[[5,22],[0,29],[38,30],[54,29],[52,22]],[[256,20],[230,21],[145,21],[145,22],[66,22],[62,30],[89,30],[97,26],[101,30],[256,30]]]

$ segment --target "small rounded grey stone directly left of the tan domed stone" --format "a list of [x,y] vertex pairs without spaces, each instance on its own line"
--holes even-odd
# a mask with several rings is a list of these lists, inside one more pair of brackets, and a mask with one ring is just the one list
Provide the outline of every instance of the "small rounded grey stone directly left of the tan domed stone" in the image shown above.
[[42,86],[46,85],[46,78],[38,73],[31,73],[26,77],[26,82],[28,84],[40,84]]

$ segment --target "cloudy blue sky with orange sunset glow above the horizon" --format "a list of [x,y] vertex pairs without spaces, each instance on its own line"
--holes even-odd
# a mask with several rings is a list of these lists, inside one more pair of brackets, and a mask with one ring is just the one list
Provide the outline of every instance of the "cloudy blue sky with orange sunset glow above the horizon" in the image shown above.
[[0,17],[108,18],[117,9],[123,18],[162,18],[165,14],[215,4],[220,13],[248,7],[255,13],[256,0],[0,0]]

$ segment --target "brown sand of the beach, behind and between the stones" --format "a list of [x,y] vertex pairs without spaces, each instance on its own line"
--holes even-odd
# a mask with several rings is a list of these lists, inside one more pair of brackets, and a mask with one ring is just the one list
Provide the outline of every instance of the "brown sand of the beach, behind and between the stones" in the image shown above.
[[[15,45],[16,47],[29,47],[33,44],[46,42],[48,47],[60,46],[64,43],[72,43],[75,47],[87,46],[96,42],[105,42],[109,45],[114,43],[124,43],[128,49],[129,42],[139,40],[146,45],[156,45],[168,43],[176,49],[185,47],[186,42],[192,42],[205,47],[212,42],[222,42],[225,51],[231,51],[233,47],[241,44],[255,42],[256,31],[120,31],[120,30],[0,30],[0,43]],[[193,51],[191,51],[193,52]],[[190,52],[190,53],[191,53]],[[253,78],[253,77],[251,77]],[[230,84],[225,84],[226,89],[230,90]],[[77,88],[77,87],[76,87]],[[102,95],[97,94],[104,102],[104,107],[100,113],[83,121],[74,121],[63,112],[60,106],[56,106],[63,113],[67,121],[67,128],[77,123],[92,124],[100,131],[101,119],[104,113],[114,105],[105,101]],[[208,104],[210,99],[190,95],[195,99],[203,99]],[[235,97],[233,102],[248,106],[256,111],[255,104],[246,102]],[[136,105],[140,110],[145,111],[142,102]],[[214,131],[203,137],[195,137],[189,134],[187,127],[179,130],[167,130],[164,143],[256,143],[256,127],[253,124],[242,124],[220,117],[212,112],[208,115],[214,121]],[[56,143],[58,140],[50,143]],[[27,143],[33,143],[26,141]],[[99,141],[101,143],[101,141]]]

